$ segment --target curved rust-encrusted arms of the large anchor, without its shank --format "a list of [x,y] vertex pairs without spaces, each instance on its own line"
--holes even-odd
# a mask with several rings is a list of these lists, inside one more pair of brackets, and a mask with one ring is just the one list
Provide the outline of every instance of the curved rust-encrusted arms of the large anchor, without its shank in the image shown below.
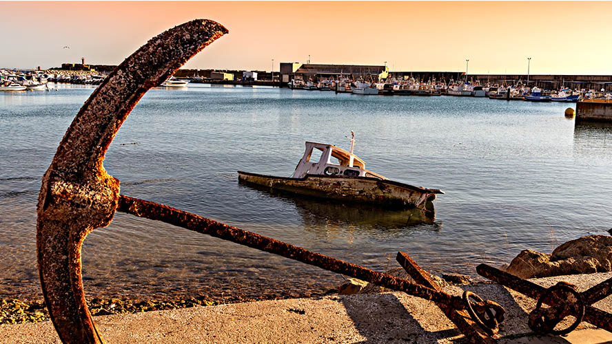
[[81,244],[110,223],[119,200],[119,180],[102,166],[110,142],[148,89],[225,33],[214,21],[195,20],[154,37],[104,80],[66,131],[37,207],[41,286],[63,343],[103,343],[85,305]]

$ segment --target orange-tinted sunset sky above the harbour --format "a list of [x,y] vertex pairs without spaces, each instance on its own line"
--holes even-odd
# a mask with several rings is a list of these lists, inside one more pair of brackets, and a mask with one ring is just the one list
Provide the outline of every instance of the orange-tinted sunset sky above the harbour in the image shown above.
[[[112,64],[192,19],[230,33],[185,65],[280,62],[469,74],[612,74],[612,2],[0,1],[0,67]],[[70,47],[70,48],[65,48]]]

